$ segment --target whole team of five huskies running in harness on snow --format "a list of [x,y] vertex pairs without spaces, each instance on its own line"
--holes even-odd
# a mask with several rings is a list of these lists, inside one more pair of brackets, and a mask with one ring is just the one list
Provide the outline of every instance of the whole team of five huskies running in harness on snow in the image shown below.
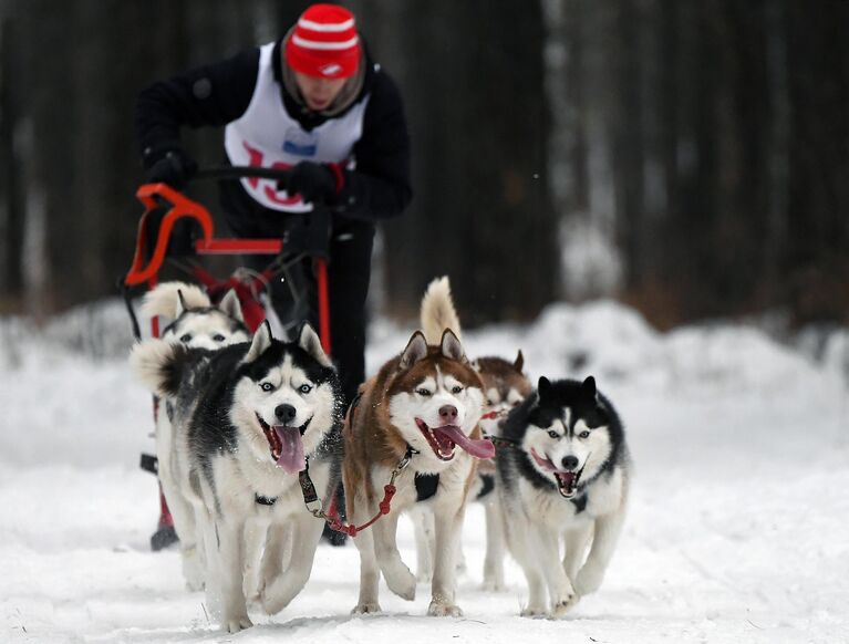
[[[267,323],[251,336],[234,293],[216,307],[178,282],[151,291],[144,312],[172,322],[131,364],[159,398],[159,479],[187,585],[206,589],[222,629],[249,627],[249,603],[273,614],[303,589],[324,523],[310,510],[328,508],[340,482],[346,522],[360,527],[355,613],[381,610],[383,575],[406,600],[416,578],[431,580],[428,614],[460,615],[473,500],[486,505],[484,585],[504,588],[506,544],[528,583],[522,615],[560,617],[601,584],[629,487],[614,408],[591,376],[532,388],[521,352],[466,356],[446,278],[422,300],[421,330],[350,409],[308,324],[291,341]],[[416,575],[397,549],[402,512],[416,528]]]

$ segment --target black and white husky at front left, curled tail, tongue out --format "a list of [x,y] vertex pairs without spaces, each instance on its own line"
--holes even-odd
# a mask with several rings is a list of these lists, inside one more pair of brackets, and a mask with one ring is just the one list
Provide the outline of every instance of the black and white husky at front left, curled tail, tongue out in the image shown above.
[[[173,401],[178,485],[204,534],[208,599],[224,629],[246,629],[251,522],[268,534],[259,593],[268,612],[286,606],[312,570],[323,522],[304,508],[299,472],[309,464],[324,497],[339,480],[337,373],[309,325],[286,343],[271,337],[268,323],[250,343],[211,352],[147,340],[131,364],[151,391]],[[291,543],[286,570],[281,541]]]

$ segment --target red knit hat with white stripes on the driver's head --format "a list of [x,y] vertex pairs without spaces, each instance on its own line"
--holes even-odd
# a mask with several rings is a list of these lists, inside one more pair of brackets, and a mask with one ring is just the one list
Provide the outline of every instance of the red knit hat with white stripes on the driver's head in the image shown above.
[[296,72],[322,79],[352,76],[360,63],[354,14],[338,4],[313,4],[301,13],[284,52]]

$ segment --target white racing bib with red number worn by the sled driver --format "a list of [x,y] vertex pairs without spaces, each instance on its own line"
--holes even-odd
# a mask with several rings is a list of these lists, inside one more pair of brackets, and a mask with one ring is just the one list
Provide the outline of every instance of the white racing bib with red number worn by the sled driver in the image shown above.
[[[271,53],[275,43],[259,50],[253,96],[245,114],[225,128],[224,147],[235,166],[286,169],[299,162],[339,163],[353,167],[351,150],[363,133],[365,96],[344,115],[307,132],[289,116],[280,85],[275,82]],[[277,189],[273,179],[244,178],[241,185],[256,201],[282,212],[309,212],[312,204]]]

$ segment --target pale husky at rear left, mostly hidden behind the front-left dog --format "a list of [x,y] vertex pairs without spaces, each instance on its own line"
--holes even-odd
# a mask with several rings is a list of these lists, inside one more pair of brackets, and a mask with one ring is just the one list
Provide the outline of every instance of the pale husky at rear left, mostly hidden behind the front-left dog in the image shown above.
[[[167,319],[161,336],[187,346],[216,350],[250,340],[239,298],[232,290],[215,307],[209,295],[196,284],[163,282],[145,294],[142,313],[148,318],[158,315]],[[172,415],[172,402],[167,398],[159,401],[156,409],[157,475],[179,538],[186,585],[189,590],[200,590],[204,585],[204,563],[201,551],[197,548],[194,509],[177,485],[179,471],[174,456]]]

